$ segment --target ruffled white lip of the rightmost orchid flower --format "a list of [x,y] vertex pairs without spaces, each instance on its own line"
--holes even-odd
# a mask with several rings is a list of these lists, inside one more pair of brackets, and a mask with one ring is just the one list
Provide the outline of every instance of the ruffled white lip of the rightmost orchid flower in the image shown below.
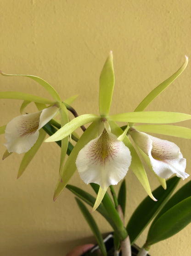
[[182,179],[189,176],[185,173],[186,160],[175,143],[136,131],[133,128],[130,129],[130,136],[138,148],[149,157],[152,169],[157,176],[163,179],[168,179],[173,174]]

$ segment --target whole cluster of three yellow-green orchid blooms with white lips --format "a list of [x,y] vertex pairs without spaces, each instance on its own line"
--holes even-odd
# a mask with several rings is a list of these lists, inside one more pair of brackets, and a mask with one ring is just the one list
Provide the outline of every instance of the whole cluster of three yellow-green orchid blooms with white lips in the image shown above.
[[[180,148],[173,142],[148,135],[146,132],[164,134],[169,136],[191,138],[189,128],[167,125],[191,119],[191,115],[174,112],[146,112],[143,111],[170,83],[178,77],[187,65],[184,64],[171,77],[153,89],[139,104],[134,112],[109,115],[114,87],[114,71],[112,52],[101,71],[99,110],[100,115],[84,114],[69,121],[68,109],[76,96],[61,101],[56,90],[43,79],[29,75],[25,76],[41,84],[54,98],[54,101],[21,92],[0,92],[0,98],[23,100],[21,112],[34,102],[38,108],[36,113],[22,114],[12,119],[7,125],[0,127],[0,133],[5,132],[7,148],[4,158],[12,152],[25,153],[19,168],[18,177],[21,176],[32,157],[45,140],[46,132],[42,129],[56,114],[60,113],[60,129],[46,142],[61,141],[60,174],[56,185],[54,200],[62,192],[76,169],[79,176],[86,183],[100,185],[94,211],[101,203],[108,186],[117,185],[124,179],[129,167],[135,173],[147,194],[153,199],[152,191],[147,179],[145,168],[137,152],[146,161],[146,164],[156,174],[163,188],[166,188],[165,179],[176,174],[185,179],[186,160]],[[59,122],[58,120],[56,122]],[[126,122],[120,127],[116,122]],[[75,144],[71,154],[65,161],[68,142],[72,139],[74,131],[82,125],[91,123]],[[140,123],[142,125],[135,125]],[[129,139],[130,138],[130,139]],[[134,143],[132,144],[131,141]],[[133,146],[134,145],[134,146]],[[65,164],[64,164],[65,162]]]

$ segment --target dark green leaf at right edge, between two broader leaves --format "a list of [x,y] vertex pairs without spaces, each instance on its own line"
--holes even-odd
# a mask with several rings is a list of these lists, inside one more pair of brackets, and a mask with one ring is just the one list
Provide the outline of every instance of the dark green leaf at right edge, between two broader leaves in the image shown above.
[[[165,204],[163,209],[157,214],[156,218],[153,222],[156,222],[160,216],[162,216],[165,212],[167,212],[170,208],[172,208],[177,203],[183,201],[185,198],[191,196],[191,180],[187,182],[184,186],[182,186]],[[152,223],[153,225],[153,223]]]

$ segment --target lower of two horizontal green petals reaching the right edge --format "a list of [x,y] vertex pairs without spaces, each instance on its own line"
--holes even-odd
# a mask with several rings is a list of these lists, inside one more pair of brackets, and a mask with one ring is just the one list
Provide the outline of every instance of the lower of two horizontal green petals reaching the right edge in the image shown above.
[[191,139],[191,129],[176,125],[135,125],[137,131]]

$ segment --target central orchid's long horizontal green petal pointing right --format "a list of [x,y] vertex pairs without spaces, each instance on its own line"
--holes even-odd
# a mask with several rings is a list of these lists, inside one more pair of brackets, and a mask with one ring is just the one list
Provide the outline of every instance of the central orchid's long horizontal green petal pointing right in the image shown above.
[[111,121],[148,124],[170,124],[191,119],[191,115],[176,112],[146,111],[129,112],[109,116]]

